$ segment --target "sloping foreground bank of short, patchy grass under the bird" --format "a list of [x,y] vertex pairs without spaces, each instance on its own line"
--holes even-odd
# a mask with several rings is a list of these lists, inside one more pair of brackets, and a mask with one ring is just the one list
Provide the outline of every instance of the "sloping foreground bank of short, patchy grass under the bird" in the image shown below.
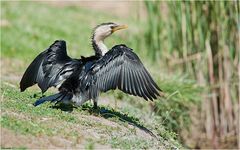
[[[173,133],[165,130],[164,126],[151,124],[143,121],[142,117],[147,114],[141,112],[139,108],[124,107],[113,109],[108,106],[100,106],[99,112],[92,111],[90,103],[80,108],[53,107],[51,104],[44,104],[34,107],[32,104],[36,100],[33,97],[35,91],[19,93],[17,88],[3,83],[1,85],[1,127],[14,132],[14,138],[19,135],[35,139],[53,137],[59,138],[63,147],[88,147],[94,148],[176,148],[180,144],[172,137]],[[133,112],[138,112],[137,118]],[[154,121],[154,117],[151,116]],[[150,121],[150,120],[149,120]],[[144,122],[144,123],[143,123]],[[150,131],[151,130],[151,131]],[[153,137],[155,134],[157,137]],[[164,135],[164,136],[163,136]],[[6,135],[1,135],[5,137]],[[2,139],[5,142],[10,139]],[[13,147],[29,147],[29,140],[21,140],[22,145],[12,143]],[[47,140],[45,141],[47,142]],[[2,147],[9,147],[6,143],[1,143]],[[50,142],[49,146],[61,147]],[[31,148],[48,147],[46,143],[42,145],[31,145]]]

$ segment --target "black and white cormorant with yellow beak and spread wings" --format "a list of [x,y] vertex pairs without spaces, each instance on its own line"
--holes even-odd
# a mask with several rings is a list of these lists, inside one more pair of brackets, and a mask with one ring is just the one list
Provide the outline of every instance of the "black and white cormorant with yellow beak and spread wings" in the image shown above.
[[127,25],[113,22],[97,25],[91,38],[95,55],[79,59],[68,56],[64,40],[56,40],[28,66],[20,81],[20,91],[34,84],[42,94],[50,87],[58,89],[56,94],[38,99],[34,106],[47,101],[81,106],[92,100],[93,108],[98,108],[100,93],[115,89],[145,100],[157,99],[162,90],[133,49],[125,44],[108,49],[104,44],[107,37],[126,28]]

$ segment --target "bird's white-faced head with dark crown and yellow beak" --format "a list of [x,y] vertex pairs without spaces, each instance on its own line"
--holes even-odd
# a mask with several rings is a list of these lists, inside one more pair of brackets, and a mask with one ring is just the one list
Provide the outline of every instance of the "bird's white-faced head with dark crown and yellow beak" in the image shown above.
[[110,36],[113,32],[126,28],[127,25],[118,25],[112,22],[102,23],[94,28],[93,38],[96,42],[104,41],[104,39]]

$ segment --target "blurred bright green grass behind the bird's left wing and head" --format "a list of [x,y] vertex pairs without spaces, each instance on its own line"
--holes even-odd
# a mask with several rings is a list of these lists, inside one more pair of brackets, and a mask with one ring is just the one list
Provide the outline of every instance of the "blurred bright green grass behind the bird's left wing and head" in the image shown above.
[[[2,27],[2,54],[11,58],[32,60],[57,39],[67,41],[71,56],[88,56],[93,54],[92,28],[102,22],[119,22],[119,18],[111,14],[74,6],[57,7],[36,2],[1,4],[1,18],[9,22]],[[117,34],[107,39],[109,48],[123,42],[121,36],[126,37],[126,32]]]

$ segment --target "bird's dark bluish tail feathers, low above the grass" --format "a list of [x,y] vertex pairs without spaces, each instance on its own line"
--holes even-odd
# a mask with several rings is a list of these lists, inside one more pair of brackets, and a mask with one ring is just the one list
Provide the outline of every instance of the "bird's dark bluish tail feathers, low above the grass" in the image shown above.
[[33,105],[38,106],[47,101],[50,101],[51,103],[52,102],[60,102],[60,101],[68,101],[68,100],[71,100],[71,98],[72,98],[72,94],[60,92],[60,93],[50,95],[47,97],[42,97],[42,98],[38,99]]

